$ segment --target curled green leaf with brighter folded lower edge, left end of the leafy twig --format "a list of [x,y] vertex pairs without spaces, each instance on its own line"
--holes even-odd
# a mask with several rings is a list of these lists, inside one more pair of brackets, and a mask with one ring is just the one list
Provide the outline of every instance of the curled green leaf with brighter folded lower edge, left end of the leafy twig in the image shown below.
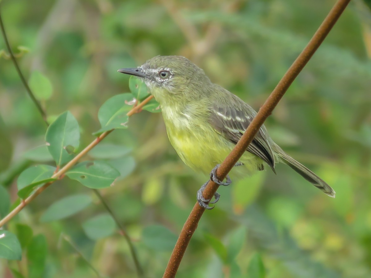
[[50,165],[36,165],[24,170],[17,180],[18,196],[25,199],[35,186],[56,179],[51,178],[56,168]]

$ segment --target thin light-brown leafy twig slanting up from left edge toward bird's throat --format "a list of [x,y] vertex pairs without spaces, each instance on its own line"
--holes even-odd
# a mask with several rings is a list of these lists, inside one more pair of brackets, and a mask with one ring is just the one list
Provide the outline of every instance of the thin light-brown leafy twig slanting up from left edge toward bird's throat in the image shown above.
[[[138,106],[132,108],[126,115],[131,116],[137,113],[146,103],[148,103],[152,99],[152,96],[147,97]],[[68,162],[63,168],[61,168],[58,172],[56,172],[52,178],[54,179],[62,179],[63,174],[66,173],[69,169],[72,168],[86,153],[88,153],[92,148],[98,145],[106,136],[111,133],[114,129],[103,132],[99,137],[93,140],[85,149],[83,149],[78,155],[76,155],[70,162]],[[49,185],[51,185],[54,181],[45,183],[43,186],[36,189],[27,199],[23,200],[18,206],[16,206],[7,216],[0,220],[0,228],[10,221],[14,216],[16,216],[22,209],[28,205],[33,199],[35,199],[41,192],[43,192]]]

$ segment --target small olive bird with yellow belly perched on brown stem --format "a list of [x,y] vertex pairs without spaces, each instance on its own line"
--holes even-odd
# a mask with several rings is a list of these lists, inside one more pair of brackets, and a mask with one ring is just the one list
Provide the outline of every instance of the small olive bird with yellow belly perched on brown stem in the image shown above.
[[[210,173],[210,178],[220,185],[216,169],[249,126],[256,112],[223,87],[212,83],[202,69],[181,56],[157,56],[134,69],[118,72],[141,77],[149,92],[160,103],[167,135],[185,164],[196,171]],[[263,170],[264,163],[275,172],[275,164],[282,161],[303,178],[335,197],[335,191],[319,176],[285,153],[269,137],[262,126],[235,166],[243,165],[248,171]],[[215,166],[216,165],[216,166]],[[214,167],[215,166],[215,167]],[[214,168],[213,168],[214,167]],[[197,192],[198,203],[211,209],[202,192],[207,182]]]

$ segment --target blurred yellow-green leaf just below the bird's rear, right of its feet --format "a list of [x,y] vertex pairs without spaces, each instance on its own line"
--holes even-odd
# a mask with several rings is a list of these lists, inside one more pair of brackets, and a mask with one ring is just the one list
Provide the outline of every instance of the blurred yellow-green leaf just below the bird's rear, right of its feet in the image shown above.
[[242,211],[252,203],[262,187],[265,173],[263,171],[237,181],[232,188],[232,203],[236,213]]

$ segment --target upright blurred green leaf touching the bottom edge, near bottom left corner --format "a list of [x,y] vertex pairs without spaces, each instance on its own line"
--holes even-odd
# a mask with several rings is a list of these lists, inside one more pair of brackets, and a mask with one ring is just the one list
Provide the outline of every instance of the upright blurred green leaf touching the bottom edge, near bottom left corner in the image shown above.
[[47,244],[44,235],[34,236],[27,247],[28,277],[43,277],[47,254]]

